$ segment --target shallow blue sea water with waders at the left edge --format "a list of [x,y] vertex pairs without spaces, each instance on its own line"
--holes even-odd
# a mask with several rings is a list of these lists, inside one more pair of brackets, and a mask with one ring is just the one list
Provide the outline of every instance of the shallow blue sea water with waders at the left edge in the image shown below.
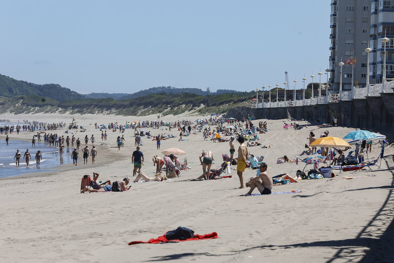
[[[14,134],[16,135],[16,132]],[[43,136],[41,136],[41,142],[38,142],[36,137],[35,147],[32,147],[32,142],[15,140],[16,136],[13,136],[14,134],[9,134],[10,139],[8,145],[6,140],[0,140],[0,177],[10,177],[32,172],[56,171],[56,168],[53,169],[55,166],[72,163],[71,152],[73,149],[71,147],[64,147],[63,156],[60,157],[59,148],[46,145]],[[13,159],[15,153],[17,153],[17,149],[19,149],[21,154],[19,167],[15,167],[16,158]],[[26,149],[29,149],[30,155],[32,156],[28,166],[26,165],[25,159],[23,159]],[[37,163],[34,159],[37,151],[41,151],[43,155],[39,169],[37,169]]]

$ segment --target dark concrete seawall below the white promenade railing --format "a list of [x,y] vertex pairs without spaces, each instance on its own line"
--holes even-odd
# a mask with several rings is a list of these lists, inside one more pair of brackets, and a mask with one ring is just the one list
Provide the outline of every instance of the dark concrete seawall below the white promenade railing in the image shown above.
[[337,119],[337,125],[366,128],[394,129],[394,93],[381,93],[380,97],[352,99],[339,103],[282,108],[230,108],[225,118],[242,119],[249,115],[253,119],[307,119],[330,123]]

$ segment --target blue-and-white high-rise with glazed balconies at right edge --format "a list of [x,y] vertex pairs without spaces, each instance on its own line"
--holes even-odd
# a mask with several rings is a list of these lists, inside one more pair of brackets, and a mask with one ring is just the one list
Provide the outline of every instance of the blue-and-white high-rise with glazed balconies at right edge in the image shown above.
[[382,83],[384,44],[381,39],[385,35],[390,39],[386,43],[386,79],[394,79],[394,0],[371,0],[370,17],[370,83]]

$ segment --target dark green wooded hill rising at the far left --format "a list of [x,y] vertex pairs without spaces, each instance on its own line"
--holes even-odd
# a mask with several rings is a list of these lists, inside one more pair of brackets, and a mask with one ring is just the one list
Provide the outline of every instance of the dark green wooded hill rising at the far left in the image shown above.
[[12,98],[20,95],[39,95],[57,101],[83,98],[78,92],[64,88],[59,84],[39,85],[0,74],[0,96]]

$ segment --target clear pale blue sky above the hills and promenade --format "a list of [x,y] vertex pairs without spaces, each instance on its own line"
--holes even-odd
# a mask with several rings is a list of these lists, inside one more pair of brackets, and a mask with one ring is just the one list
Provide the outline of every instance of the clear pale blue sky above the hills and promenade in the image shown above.
[[285,71],[298,89],[329,57],[330,1],[4,1],[2,11],[0,73],[80,93],[250,91],[282,87]]

